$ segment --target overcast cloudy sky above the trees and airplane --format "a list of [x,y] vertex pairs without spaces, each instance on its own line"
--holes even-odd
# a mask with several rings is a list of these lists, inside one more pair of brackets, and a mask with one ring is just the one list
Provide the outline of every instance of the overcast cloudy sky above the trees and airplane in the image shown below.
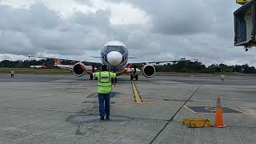
[[138,61],[198,58],[256,66],[234,46],[234,0],[0,0],[0,60],[26,55],[99,62],[119,40]]

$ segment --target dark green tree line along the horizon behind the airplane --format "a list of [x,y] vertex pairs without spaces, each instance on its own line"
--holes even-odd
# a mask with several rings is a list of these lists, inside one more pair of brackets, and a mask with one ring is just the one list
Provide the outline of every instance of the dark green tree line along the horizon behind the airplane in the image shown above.
[[[62,61],[62,64],[74,64],[74,61]],[[0,62],[0,67],[10,67],[10,68],[27,68],[29,66],[46,65],[46,68],[56,68],[54,67],[54,60],[52,59],[41,59],[41,60],[25,60],[25,61],[9,61],[4,60]],[[90,63],[86,63],[90,65]],[[221,73],[221,72],[238,72],[245,74],[256,74],[256,69],[254,66],[248,66],[244,64],[242,66],[227,66],[223,63],[212,64],[210,66],[205,66],[202,62],[190,62],[190,61],[180,61],[174,64],[164,64],[155,65],[157,71],[162,72],[186,72],[186,73]]]

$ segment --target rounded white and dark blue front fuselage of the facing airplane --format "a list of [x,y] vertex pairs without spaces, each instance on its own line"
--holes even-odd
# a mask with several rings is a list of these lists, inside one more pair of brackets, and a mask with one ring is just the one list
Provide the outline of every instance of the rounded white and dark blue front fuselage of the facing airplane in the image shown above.
[[126,69],[128,62],[128,50],[126,45],[119,41],[110,41],[102,47],[102,63],[111,71]]

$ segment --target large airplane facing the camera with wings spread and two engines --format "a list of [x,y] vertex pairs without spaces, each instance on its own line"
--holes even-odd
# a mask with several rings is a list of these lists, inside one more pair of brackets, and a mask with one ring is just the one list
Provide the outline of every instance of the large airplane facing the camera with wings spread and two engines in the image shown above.
[[[29,57],[35,57],[35,58],[46,58],[46,57],[38,57],[38,56],[29,56]],[[102,47],[101,56],[100,57],[94,57],[94,58],[101,58],[102,63],[100,62],[89,62],[89,61],[78,61],[78,60],[70,60],[70,59],[61,59],[61,58],[50,58],[50,59],[58,59],[58,60],[70,60],[70,61],[77,61],[78,63],[74,65],[66,66],[70,70],[72,68],[74,75],[81,77],[85,74],[85,71],[80,66],[80,63],[86,62],[93,64],[91,66],[91,70],[94,72],[95,68],[94,65],[97,64],[104,64],[106,65],[110,71],[116,72],[116,71],[122,71],[127,70],[130,71],[130,80],[138,80],[138,65],[141,66],[141,72],[146,78],[151,78],[155,74],[155,68],[153,64],[159,64],[163,62],[178,62],[178,61],[190,61],[186,60],[184,58],[180,60],[167,60],[167,61],[156,61],[156,62],[135,62],[135,63],[129,63],[129,54],[128,50],[126,48],[126,45],[119,41],[110,41],[106,42],[106,44]],[[82,65],[84,65],[82,63]],[[64,65],[56,65],[59,67],[64,67]],[[131,68],[133,66],[134,68]],[[90,79],[92,79],[92,76],[90,76]]]

